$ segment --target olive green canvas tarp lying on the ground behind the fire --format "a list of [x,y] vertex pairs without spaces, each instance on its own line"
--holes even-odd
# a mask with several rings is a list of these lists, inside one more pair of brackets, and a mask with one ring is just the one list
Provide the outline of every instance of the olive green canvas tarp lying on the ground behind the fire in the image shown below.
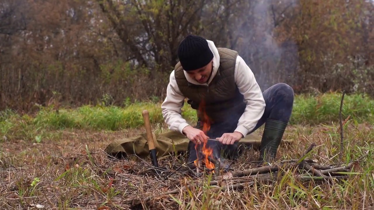
[[[190,141],[186,136],[179,132],[168,131],[165,133],[155,134],[155,146],[157,151],[157,158],[162,158],[175,153],[183,153],[187,151],[188,142]],[[290,142],[290,140],[282,140],[282,143]],[[253,146],[258,148],[261,143],[261,136],[249,134],[239,141],[239,144],[245,146]],[[124,158],[131,155],[136,155],[139,158],[149,157],[147,134],[141,133],[130,138],[118,139],[111,142],[104,150],[108,155],[116,158]]]

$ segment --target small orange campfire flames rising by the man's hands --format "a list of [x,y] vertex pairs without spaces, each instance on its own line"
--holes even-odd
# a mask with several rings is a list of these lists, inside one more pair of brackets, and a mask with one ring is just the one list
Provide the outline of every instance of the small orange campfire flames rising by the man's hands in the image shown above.
[[[200,119],[201,119],[201,123],[203,125],[203,132],[206,135],[206,132],[208,132],[210,127],[211,127],[211,120],[209,119],[208,115],[206,114],[205,101],[204,100],[200,103],[199,112],[200,112],[200,114],[202,114]],[[208,142],[208,139],[204,139],[203,146],[202,146],[202,149],[201,149],[201,151],[204,155],[204,157],[202,158],[202,162],[205,163],[206,168],[214,169],[214,164],[211,161],[209,161],[209,159],[208,159],[208,157],[213,158],[213,149],[209,148],[206,145],[207,142]],[[196,149],[196,152],[197,152],[197,160],[194,161],[194,164],[195,164],[195,166],[198,166],[199,165],[198,162],[199,162],[200,158],[199,158],[199,152],[198,152],[197,145],[195,145],[195,149]],[[214,171],[213,171],[213,173],[214,173]]]

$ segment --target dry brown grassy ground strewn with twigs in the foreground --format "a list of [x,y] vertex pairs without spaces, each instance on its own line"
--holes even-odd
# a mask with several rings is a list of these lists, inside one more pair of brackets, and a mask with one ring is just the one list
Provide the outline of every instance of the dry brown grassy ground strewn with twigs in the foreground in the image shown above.
[[[364,209],[373,206],[374,161],[371,157],[374,132],[370,124],[344,126],[344,157],[358,159],[362,175],[343,183],[299,183],[292,177],[274,185],[250,186],[240,191],[212,192],[206,186],[183,191],[172,197],[155,198],[150,209]],[[149,160],[111,160],[102,151],[116,138],[145,132],[128,129],[117,132],[92,130],[56,131],[55,138],[33,143],[4,140],[0,153],[0,209],[129,209],[131,200],[175,189],[191,177],[158,180],[149,169]],[[162,130],[159,130],[162,132]],[[261,133],[262,129],[258,130]],[[336,163],[340,136],[337,126],[290,126],[284,139],[289,146],[279,149],[279,159],[299,158],[311,144],[322,145],[310,154],[321,164]],[[87,145],[87,148],[86,148]],[[90,155],[87,155],[89,151]],[[248,168],[250,150],[232,165]],[[257,157],[257,156],[256,156]],[[161,166],[177,167],[180,161],[168,158]],[[331,159],[331,160],[330,160]],[[148,165],[148,167],[147,167]],[[370,172],[370,173],[367,173]],[[181,172],[180,172],[181,173]],[[183,175],[183,174],[181,174]],[[40,206],[42,205],[42,206]],[[144,206],[145,207],[145,206]]]

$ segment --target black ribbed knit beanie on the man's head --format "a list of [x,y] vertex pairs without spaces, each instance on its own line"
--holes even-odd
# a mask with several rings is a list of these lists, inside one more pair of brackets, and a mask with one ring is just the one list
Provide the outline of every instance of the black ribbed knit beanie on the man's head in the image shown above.
[[206,66],[212,61],[213,53],[205,38],[188,35],[179,44],[178,58],[184,71],[190,71]]

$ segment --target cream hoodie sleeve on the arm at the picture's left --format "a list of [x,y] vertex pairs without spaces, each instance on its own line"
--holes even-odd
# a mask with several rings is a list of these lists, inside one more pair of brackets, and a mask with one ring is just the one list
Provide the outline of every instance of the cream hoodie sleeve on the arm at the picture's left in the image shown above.
[[170,130],[179,131],[182,134],[184,127],[189,126],[181,115],[184,99],[185,97],[180,92],[177,81],[175,80],[174,71],[172,71],[166,89],[166,98],[161,104],[162,116]]

